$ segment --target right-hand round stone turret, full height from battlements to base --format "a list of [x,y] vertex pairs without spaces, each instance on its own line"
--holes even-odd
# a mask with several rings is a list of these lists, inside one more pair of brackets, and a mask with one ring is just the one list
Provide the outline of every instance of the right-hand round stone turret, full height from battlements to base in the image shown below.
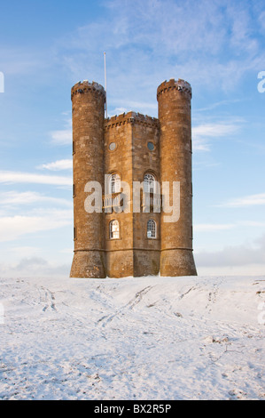
[[[160,120],[160,178],[180,182],[180,218],[161,217],[160,275],[196,275],[192,253],[191,85],[169,80],[157,91]],[[170,196],[171,197],[171,196]]]

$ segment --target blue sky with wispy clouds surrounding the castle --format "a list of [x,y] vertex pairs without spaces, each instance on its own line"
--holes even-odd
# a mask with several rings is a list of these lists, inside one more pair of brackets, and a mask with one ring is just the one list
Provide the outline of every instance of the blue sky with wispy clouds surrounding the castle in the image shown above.
[[104,52],[109,116],[191,83],[199,274],[264,274],[264,1],[10,0],[0,20],[0,276],[69,273],[70,90],[104,85]]

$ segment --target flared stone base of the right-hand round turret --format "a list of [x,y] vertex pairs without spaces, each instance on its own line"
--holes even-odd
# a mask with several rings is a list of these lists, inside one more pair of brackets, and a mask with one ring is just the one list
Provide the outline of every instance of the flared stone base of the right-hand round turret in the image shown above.
[[197,276],[191,250],[163,250],[160,255],[160,276]]

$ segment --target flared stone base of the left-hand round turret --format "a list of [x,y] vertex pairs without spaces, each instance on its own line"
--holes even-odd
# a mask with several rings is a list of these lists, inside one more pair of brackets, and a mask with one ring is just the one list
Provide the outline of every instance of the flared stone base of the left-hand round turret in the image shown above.
[[105,278],[103,251],[75,251],[70,277]]

